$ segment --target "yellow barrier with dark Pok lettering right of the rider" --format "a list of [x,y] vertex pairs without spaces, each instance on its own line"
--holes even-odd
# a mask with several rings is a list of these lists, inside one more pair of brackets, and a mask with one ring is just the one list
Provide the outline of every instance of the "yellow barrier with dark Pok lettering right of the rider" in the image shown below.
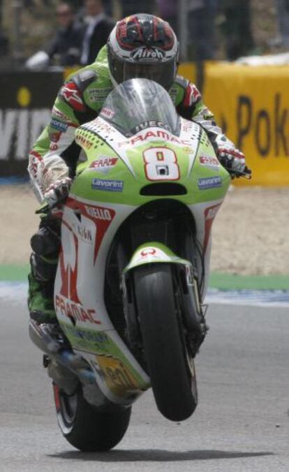
[[251,184],[288,186],[289,66],[207,64],[203,94],[223,131],[246,154]]

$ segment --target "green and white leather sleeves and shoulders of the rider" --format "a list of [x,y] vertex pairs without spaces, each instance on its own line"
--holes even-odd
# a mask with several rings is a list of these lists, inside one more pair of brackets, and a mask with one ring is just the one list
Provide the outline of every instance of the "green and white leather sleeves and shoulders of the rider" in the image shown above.
[[[75,146],[75,129],[98,116],[112,90],[107,48],[99,52],[96,62],[71,75],[61,87],[52,108],[50,123],[36,140],[29,155],[29,175],[38,200],[57,179],[73,175],[80,149]],[[193,119],[206,129],[209,139],[218,146],[234,145],[214,123],[214,116],[202,102],[194,84],[177,76],[170,97],[179,115]]]

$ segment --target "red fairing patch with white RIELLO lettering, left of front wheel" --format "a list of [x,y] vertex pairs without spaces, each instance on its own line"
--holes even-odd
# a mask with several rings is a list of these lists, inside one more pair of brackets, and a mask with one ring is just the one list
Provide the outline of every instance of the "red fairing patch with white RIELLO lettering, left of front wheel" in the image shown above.
[[[66,206],[68,206],[71,209],[78,209],[84,216],[91,221],[94,221],[94,224],[96,225],[96,240],[94,242],[94,263],[96,262],[96,258],[98,256],[99,249],[101,248],[101,243],[103,242],[103,237],[105,236],[105,233],[108,230],[108,227],[110,226],[110,223],[112,223],[112,220],[114,219],[114,216],[116,212],[114,209],[108,208],[108,207],[103,207],[101,204],[100,205],[90,205],[87,203],[82,203],[82,202],[77,202],[77,200],[74,200],[73,198],[68,198],[66,200]],[[93,211],[94,209],[101,209],[101,210],[108,210],[110,212],[111,220],[105,220],[105,219],[99,219],[97,217],[91,216],[87,212],[87,208],[91,208]]]

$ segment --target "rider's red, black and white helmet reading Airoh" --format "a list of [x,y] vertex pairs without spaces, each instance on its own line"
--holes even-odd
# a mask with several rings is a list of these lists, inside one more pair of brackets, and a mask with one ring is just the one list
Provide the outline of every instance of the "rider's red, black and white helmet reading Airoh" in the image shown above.
[[177,75],[179,43],[170,25],[144,13],[117,22],[108,38],[112,82],[151,79],[169,90]]

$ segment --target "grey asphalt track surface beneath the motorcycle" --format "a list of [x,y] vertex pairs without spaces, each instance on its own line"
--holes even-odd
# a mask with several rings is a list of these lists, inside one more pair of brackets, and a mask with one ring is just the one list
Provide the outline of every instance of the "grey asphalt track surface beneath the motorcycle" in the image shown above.
[[27,334],[24,303],[0,302],[0,471],[288,471],[289,312],[212,305],[197,362],[199,405],[175,424],[150,393],[115,450],[74,450]]

